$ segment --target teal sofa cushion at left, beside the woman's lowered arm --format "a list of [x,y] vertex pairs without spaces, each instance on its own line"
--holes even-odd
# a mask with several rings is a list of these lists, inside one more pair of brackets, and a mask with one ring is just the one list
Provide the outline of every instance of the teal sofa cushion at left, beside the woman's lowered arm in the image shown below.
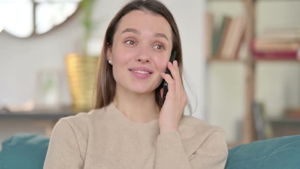
[[0,152],[0,168],[43,168],[49,145],[47,136],[18,133],[4,140]]

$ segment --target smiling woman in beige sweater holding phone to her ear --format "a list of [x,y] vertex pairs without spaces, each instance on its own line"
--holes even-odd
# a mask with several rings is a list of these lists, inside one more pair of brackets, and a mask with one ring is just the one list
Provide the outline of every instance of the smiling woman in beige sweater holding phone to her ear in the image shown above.
[[181,40],[163,4],[124,6],[107,28],[99,62],[94,109],[57,122],[44,168],[224,168],[223,130],[183,116]]

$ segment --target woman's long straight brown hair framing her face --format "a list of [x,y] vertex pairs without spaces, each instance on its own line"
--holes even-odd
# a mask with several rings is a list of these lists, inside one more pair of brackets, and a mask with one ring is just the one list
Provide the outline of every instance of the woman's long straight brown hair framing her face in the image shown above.
[[[134,0],[125,5],[118,13],[113,17],[109,23],[105,38],[102,46],[102,51],[100,54],[98,62],[98,71],[96,77],[96,96],[94,109],[102,108],[107,106],[113,101],[115,96],[116,82],[112,74],[112,65],[107,62],[107,50],[109,46],[112,46],[113,36],[117,29],[119,20],[133,10],[140,10],[145,12],[151,12],[154,15],[159,15],[164,17],[171,26],[172,29],[172,51],[176,51],[176,61],[178,63],[180,76],[182,78],[183,60],[182,60],[182,46],[181,39],[179,37],[179,31],[176,22],[171,14],[171,12],[159,1],[156,0]],[[162,107],[162,98],[160,96],[161,86],[155,90],[155,99],[159,106]]]

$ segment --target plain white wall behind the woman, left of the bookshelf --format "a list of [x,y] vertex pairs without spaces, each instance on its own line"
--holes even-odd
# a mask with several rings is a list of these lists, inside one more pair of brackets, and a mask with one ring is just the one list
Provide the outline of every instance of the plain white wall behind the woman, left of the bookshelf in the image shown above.
[[[113,15],[125,4],[124,0],[97,1],[93,18],[102,23],[95,31],[95,38],[103,38]],[[203,12],[204,1],[162,1],[173,14],[182,38],[184,69],[188,82],[195,90],[198,107],[194,116],[204,117],[204,57],[203,57]],[[35,78],[39,69],[65,70],[64,57],[69,52],[80,51],[80,15],[63,26],[42,35],[18,39],[0,33],[0,104],[18,104],[33,99]],[[99,49],[100,50],[100,49]],[[70,103],[66,75],[62,103]],[[187,87],[186,87],[187,88]],[[188,91],[192,108],[193,95]],[[12,129],[12,126],[17,129]],[[0,142],[15,132],[43,133],[31,121],[7,123],[0,119]]]

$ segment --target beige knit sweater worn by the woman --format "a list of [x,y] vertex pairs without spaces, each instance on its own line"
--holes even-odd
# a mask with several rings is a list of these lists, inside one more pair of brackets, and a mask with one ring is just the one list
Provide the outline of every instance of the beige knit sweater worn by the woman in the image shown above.
[[160,134],[158,119],[134,123],[110,103],[59,120],[44,168],[224,168],[227,154],[218,127],[184,116],[179,131]]

